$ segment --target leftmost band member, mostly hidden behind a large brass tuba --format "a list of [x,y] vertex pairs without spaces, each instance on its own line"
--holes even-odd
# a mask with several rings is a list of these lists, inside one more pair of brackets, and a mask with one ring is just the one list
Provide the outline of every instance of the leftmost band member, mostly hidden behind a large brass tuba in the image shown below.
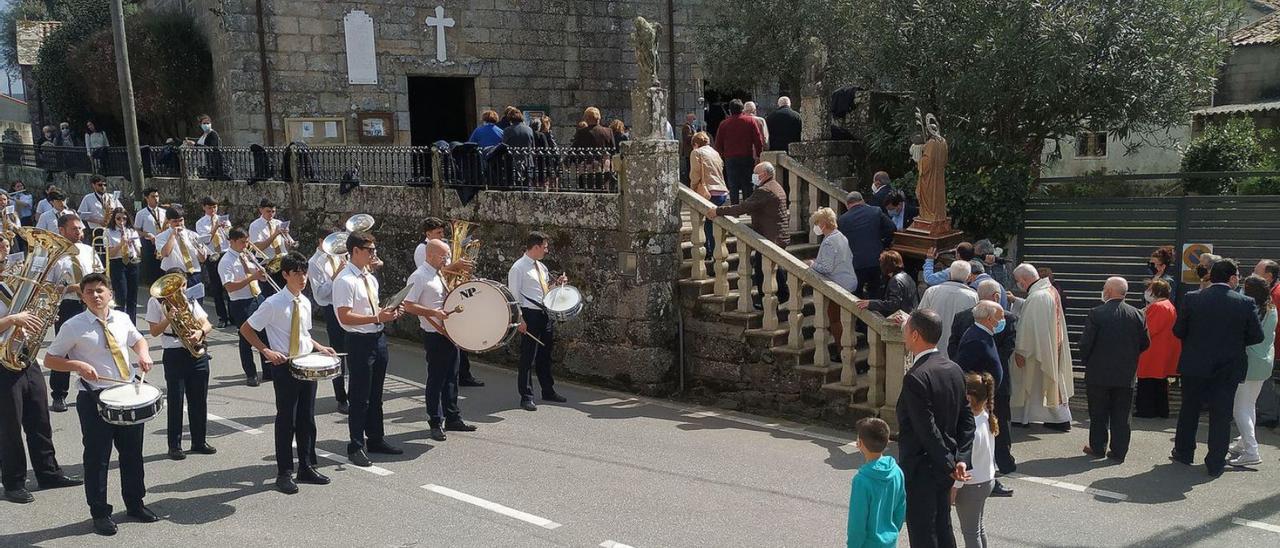
[[[0,238],[0,257],[9,255],[9,242]],[[40,321],[31,312],[9,314],[9,306],[0,298],[0,332],[17,326],[40,329]],[[27,490],[27,455],[22,434],[31,444],[31,467],[41,489],[79,485],[83,481],[68,478],[58,465],[54,453],[54,431],[49,425],[49,388],[40,365],[32,360],[22,371],[0,367],[0,475],[4,480],[4,498],[19,504],[36,498]]]

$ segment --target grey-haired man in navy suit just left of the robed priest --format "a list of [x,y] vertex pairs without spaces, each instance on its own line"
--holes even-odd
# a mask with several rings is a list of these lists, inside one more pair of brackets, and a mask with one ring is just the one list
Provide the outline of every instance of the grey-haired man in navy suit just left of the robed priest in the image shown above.
[[[991,279],[982,280],[978,283],[978,301],[998,303],[1001,289],[1000,282]],[[1012,474],[1018,471],[1018,461],[1014,460],[1014,437],[1012,428],[1009,424],[1012,415],[1009,408],[1009,399],[1012,396],[1010,392],[1009,364],[1012,364],[1014,346],[1018,341],[1018,315],[1006,310],[1004,318],[1005,329],[997,330],[995,337],[996,352],[1000,353],[1001,374],[1001,380],[996,384],[995,406],[996,419],[1000,421],[1000,434],[996,435],[996,471],[1000,474]],[[973,309],[956,312],[955,319],[951,320],[951,338],[947,339],[947,356],[955,356],[960,352],[960,341],[973,324]],[[1001,485],[1000,480],[996,480],[996,487],[991,490],[992,497],[1012,497],[1012,494],[1014,490]]]

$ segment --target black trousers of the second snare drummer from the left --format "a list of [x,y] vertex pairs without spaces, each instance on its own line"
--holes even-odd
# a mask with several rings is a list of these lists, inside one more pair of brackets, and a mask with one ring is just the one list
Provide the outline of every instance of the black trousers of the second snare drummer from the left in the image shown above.
[[298,470],[315,466],[316,460],[316,383],[298,380],[287,366],[271,375],[275,391],[275,469],[293,471],[293,442],[297,442]]

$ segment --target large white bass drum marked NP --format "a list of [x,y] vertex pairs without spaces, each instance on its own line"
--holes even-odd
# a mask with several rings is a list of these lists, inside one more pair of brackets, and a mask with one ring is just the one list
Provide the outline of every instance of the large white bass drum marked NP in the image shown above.
[[488,279],[463,283],[444,297],[444,310],[462,307],[444,319],[444,329],[458,348],[488,352],[518,333],[520,305],[506,286]]

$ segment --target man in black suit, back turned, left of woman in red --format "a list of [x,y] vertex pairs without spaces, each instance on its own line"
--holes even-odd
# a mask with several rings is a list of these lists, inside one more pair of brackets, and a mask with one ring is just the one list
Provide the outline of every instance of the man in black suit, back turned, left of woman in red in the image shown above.
[[[1124,462],[1129,453],[1129,408],[1138,356],[1151,346],[1142,311],[1124,302],[1129,282],[1107,278],[1102,303],[1089,310],[1080,335],[1080,362],[1089,398],[1089,444],[1084,453]],[[1107,430],[1111,451],[1107,452]]]

